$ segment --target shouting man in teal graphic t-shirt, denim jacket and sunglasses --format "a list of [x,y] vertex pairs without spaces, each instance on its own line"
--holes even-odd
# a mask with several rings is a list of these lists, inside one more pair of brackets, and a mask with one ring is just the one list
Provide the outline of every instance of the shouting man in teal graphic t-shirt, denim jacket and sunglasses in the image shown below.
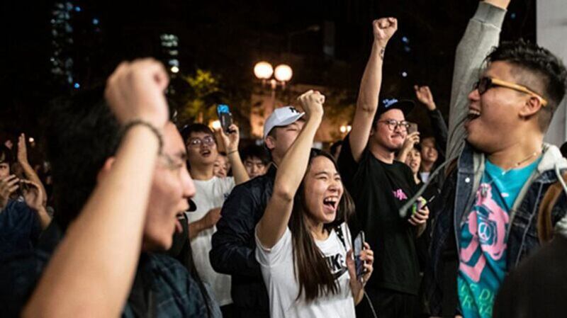
[[432,316],[493,317],[506,273],[539,246],[537,225],[555,225],[566,211],[563,193],[551,220],[539,220],[547,189],[567,169],[559,149],[544,144],[567,71],[523,40],[493,48],[509,3],[481,2],[456,50],[451,164],[432,208]]

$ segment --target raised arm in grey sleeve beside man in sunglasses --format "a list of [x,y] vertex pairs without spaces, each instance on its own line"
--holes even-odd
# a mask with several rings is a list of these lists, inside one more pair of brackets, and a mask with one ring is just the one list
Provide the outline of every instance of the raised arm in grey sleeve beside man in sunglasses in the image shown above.
[[449,140],[447,159],[461,153],[468,115],[468,93],[478,81],[478,72],[492,47],[498,45],[500,28],[510,0],[486,0],[478,4],[475,15],[456,48],[451,104],[449,108]]

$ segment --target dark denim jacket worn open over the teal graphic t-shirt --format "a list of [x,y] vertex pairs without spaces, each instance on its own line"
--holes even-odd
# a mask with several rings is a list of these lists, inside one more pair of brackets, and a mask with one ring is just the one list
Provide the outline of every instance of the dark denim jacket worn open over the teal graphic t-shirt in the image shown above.
[[[457,237],[464,220],[471,212],[475,194],[484,174],[484,154],[475,152],[466,144],[444,183],[440,200],[432,207],[434,229],[430,246],[431,263],[427,271],[427,295],[433,315],[453,314],[441,312],[443,265],[447,259],[458,261],[459,241]],[[510,226],[507,229],[507,270],[524,259],[539,246],[537,237],[537,214],[539,205],[551,184],[558,181],[558,171],[567,169],[567,161],[555,146],[544,144],[544,152],[537,169],[520,191],[510,211]],[[563,194],[564,196],[564,194]],[[553,224],[561,220],[567,209],[567,200],[558,200],[560,208],[554,208]],[[457,273],[455,272],[455,277]],[[456,290],[454,291],[456,293]]]

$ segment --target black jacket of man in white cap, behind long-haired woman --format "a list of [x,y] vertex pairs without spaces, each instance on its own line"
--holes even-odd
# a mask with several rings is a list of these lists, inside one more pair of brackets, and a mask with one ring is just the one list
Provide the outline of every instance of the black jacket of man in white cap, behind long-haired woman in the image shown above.
[[215,271],[232,276],[232,301],[249,316],[269,317],[269,297],[254,249],[254,229],[274,191],[276,167],[264,176],[236,186],[225,200],[213,234],[210,263]]

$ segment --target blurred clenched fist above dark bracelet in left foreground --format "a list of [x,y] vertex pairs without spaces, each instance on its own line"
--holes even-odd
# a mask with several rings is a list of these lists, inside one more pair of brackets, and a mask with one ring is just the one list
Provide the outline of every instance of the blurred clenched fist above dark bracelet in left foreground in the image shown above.
[[122,62],[106,81],[104,96],[125,124],[145,120],[162,129],[169,119],[164,90],[169,78],[164,66],[155,59]]

